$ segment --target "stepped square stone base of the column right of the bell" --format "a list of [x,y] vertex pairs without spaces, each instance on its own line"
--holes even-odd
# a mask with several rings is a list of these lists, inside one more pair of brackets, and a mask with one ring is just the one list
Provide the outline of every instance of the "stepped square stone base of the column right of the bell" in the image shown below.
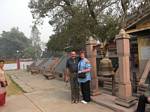
[[136,104],[136,98],[135,97],[129,97],[127,99],[116,98],[115,103],[117,105],[129,108]]

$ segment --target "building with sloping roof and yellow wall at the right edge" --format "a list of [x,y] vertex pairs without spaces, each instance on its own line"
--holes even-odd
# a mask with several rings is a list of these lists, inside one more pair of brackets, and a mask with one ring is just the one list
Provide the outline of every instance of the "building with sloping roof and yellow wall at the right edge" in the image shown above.
[[126,32],[131,37],[131,70],[144,83],[150,73],[150,7],[141,8],[140,12],[128,18]]

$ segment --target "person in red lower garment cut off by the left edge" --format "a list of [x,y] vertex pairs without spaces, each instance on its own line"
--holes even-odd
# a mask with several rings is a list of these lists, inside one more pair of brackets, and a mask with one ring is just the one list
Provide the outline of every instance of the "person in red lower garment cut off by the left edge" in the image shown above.
[[7,81],[4,73],[4,60],[0,60],[0,106],[5,104]]

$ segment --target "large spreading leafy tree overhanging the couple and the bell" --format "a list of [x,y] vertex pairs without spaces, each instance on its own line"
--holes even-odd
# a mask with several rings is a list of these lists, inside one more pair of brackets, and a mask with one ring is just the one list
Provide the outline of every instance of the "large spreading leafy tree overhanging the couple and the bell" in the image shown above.
[[[125,26],[126,17],[135,10],[135,6],[145,4],[147,1],[31,0],[29,7],[37,23],[40,18],[50,17],[49,23],[55,29],[55,38],[65,38],[68,44],[71,42],[73,46],[72,42],[78,45],[79,39],[85,44],[89,36],[101,42],[114,38],[120,27]],[[56,39],[50,41],[54,40]]]

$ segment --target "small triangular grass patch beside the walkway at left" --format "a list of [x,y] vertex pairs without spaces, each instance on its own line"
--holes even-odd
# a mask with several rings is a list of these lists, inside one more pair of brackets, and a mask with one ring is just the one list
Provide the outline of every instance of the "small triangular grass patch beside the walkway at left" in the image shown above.
[[8,74],[6,75],[6,77],[8,81],[7,95],[10,96],[22,94],[23,90],[19,87],[19,85],[17,85]]

